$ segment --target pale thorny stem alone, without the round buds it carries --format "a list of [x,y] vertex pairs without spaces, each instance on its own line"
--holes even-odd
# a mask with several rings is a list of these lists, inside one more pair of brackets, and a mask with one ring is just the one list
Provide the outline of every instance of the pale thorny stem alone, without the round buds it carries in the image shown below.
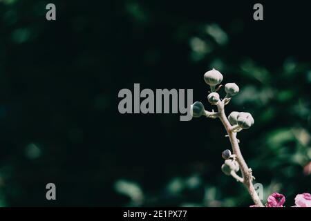
[[247,166],[247,164],[243,158],[243,155],[240,151],[240,146],[238,146],[238,139],[236,138],[236,133],[234,132],[234,128],[231,126],[231,124],[229,123],[229,121],[225,115],[225,100],[218,102],[216,105],[218,108],[218,117],[219,117],[220,121],[223,123],[223,126],[225,126],[225,129],[227,131],[230,143],[232,145],[232,151],[233,151],[234,155],[236,155],[236,160],[238,162],[238,165],[241,168],[243,178],[239,177],[236,174],[232,175],[232,176],[234,178],[236,178],[236,180],[238,180],[244,184],[244,186],[247,188],[247,191],[249,192],[249,195],[251,195],[252,200],[254,201],[256,206],[264,207],[263,203],[259,199],[259,197],[255,191],[254,185],[253,185],[252,169],[249,169],[249,167]]

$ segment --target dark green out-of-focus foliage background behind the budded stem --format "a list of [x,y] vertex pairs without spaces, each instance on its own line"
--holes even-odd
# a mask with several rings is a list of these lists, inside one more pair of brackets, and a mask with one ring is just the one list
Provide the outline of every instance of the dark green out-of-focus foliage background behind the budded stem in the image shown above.
[[210,110],[211,68],[241,88],[227,113],[255,119],[238,137],[264,198],[310,192],[309,8],[263,1],[254,21],[254,3],[1,0],[0,205],[249,206],[220,170],[218,120],[117,111],[134,83],[193,88]]

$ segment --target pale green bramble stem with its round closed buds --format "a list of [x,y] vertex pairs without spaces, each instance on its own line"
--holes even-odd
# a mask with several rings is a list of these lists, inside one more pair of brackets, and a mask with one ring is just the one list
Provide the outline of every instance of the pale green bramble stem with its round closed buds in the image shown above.
[[[195,102],[191,105],[190,113],[192,117],[205,116],[220,119],[227,131],[227,137],[229,137],[232,146],[232,153],[230,150],[225,150],[222,153],[225,162],[221,166],[221,170],[225,175],[231,175],[238,182],[242,182],[255,205],[263,207],[263,203],[258,198],[258,194],[254,189],[252,169],[247,166],[238,144],[239,140],[236,138],[238,132],[250,128],[254,124],[254,118],[250,113],[237,111],[230,113],[227,118],[225,115],[225,105],[229,104],[232,97],[237,95],[240,89],[235,83],[227,83],[225,84],[226,96],[224,99],[220,99],[220,95],[217,91],[221,86],[219,84],[223,81],[223,75],[218,70],[213,68],[212,70],[207,71],[204,75],[204,80],[210,87],[210,93],[207,95],[207,100],[211,105],[217,106],[218,112],[206,111],[201,102]],[[218,87],[216,88],[216,86]],[[237,174],[240,169],[242,176]]]

